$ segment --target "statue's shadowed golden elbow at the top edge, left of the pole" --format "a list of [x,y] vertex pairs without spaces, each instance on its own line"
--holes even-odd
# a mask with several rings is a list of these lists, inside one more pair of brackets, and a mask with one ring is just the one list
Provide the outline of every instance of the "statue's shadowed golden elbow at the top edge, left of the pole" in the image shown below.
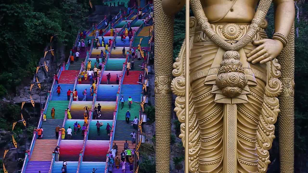
[[169,16],[179,12],[184,7],[184,4],[185,0],[162,0],[163,10]]

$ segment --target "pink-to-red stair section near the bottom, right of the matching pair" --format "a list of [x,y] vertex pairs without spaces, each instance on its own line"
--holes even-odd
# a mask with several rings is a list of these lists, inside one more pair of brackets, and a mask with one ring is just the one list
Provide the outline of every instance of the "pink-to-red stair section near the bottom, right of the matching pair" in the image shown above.
[[109,140],[87,140],[83,155],[83,161],[106,162],[106,155],[108,150]]

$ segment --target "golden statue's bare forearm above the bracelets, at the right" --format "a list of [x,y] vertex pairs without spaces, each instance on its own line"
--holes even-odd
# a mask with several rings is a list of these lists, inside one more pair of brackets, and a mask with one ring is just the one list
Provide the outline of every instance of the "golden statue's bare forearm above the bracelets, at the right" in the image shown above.
[[275,32],[289,36],[294,22],[294,0],[275,0]]

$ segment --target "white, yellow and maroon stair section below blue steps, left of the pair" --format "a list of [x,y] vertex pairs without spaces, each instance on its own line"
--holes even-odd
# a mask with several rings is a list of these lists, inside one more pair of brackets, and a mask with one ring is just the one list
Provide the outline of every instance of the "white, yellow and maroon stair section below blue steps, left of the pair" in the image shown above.
[[71,116],[72,119],[84,119],[84,107],[88,107],[90,111],[92,109],[92,101],[72,101]]

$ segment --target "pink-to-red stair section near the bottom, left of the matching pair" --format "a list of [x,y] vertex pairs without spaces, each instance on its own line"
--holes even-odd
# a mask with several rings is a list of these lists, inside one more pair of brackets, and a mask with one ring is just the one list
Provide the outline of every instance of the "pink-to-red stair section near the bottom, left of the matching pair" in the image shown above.
[[[67,130],[67,128],[65,128]],[[73,133],[72,133],[73,134]],[[75,135],[75,134],[74,134]],[[80,134],[79,134],[80,135]],[[67,134],[65,135],[65,137]],[[80,135],[82,136],[82,135]],[[60,161],[78,161],[79,153],[82,150],[83,140],[65,140],[60,142]]]

